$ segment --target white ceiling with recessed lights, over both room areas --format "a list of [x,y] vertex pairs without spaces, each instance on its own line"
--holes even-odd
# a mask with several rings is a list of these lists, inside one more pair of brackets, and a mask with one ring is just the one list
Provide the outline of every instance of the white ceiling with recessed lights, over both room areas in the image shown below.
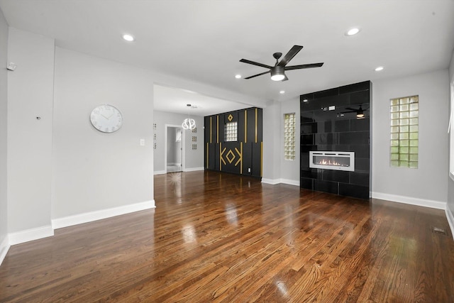
[[[340,85],[441,70],[454,48],[453,0],[0,0],[0,8],[10,26],[55,38],[62,48],[260,99],[263,106]],[[358,35],[344,35],[355,26]],[[123,41],[123,33],[135,42]],[[274,65],[272,53],[285,54],[293,45],[304,48],[289,65],[325,64],[287,71],[286,82],[269,75],[234,77],[266,71],[241,58]],[[375,72],[379,65],[384,70]],[[161,111],[187,113],[191,103],[203,116],[248,107],[175,87],[155,91]]]

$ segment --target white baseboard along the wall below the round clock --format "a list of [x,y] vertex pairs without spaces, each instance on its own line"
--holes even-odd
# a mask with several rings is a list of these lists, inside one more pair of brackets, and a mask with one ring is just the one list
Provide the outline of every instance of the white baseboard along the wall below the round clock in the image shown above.
[[130,214],[135,211],[143,211],[145,209],[154,209],[155,200],[140,202],[131,205],[114,207],[111,209],[102,209],[100,211],[90,211],[84,214],[77,214],[74,216],[65,216],[59,219],[52,220],[52,228],[62,228],[73,226],[77,224],[92,222],[96,220],[110,218],[112,216],[120,216],[122,214]]

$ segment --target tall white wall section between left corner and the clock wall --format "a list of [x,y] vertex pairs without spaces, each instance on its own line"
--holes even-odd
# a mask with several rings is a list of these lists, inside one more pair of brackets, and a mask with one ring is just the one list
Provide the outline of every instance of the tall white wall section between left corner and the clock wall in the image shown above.
[[8,229],[52,233],[54,40],[9,28],[8,46],[9,62],[17,65],[8,75]]

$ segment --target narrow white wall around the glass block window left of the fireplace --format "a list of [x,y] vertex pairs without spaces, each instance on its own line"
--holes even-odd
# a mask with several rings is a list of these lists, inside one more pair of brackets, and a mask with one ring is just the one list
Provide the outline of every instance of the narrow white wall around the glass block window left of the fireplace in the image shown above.
[[[295,113],[296,123],[295,123],[295,160],[285,160],[284,159],[284,114]],[[299,97],[294,98],[289,101],[282,102],[281,104],[281,116],[279,119],[281,140],[279,141],[279,146],[281,153],[279,155],[280,160],[280,174],[282,182],[287,184],[295,184],[299,186],[299,121],[300,116],[300,106],[299,106]]]

